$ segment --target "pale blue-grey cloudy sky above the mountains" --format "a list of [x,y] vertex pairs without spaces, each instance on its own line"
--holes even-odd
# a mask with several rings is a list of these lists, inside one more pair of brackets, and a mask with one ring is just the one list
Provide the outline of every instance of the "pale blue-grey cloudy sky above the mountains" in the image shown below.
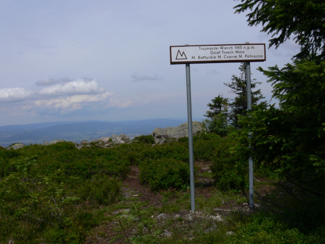
[[[231,0],[0,1],[0,126],[54,121],[186,118],[185,65],[170,65],[170,46],[266,43],[262,26],[247,25]],[[291,62],[288,40],[251,63],[256,69]],[[223,82],[240,63],[191,64],[193,118],[204,118]],[[276,101],[272,100],[272,103]]]

